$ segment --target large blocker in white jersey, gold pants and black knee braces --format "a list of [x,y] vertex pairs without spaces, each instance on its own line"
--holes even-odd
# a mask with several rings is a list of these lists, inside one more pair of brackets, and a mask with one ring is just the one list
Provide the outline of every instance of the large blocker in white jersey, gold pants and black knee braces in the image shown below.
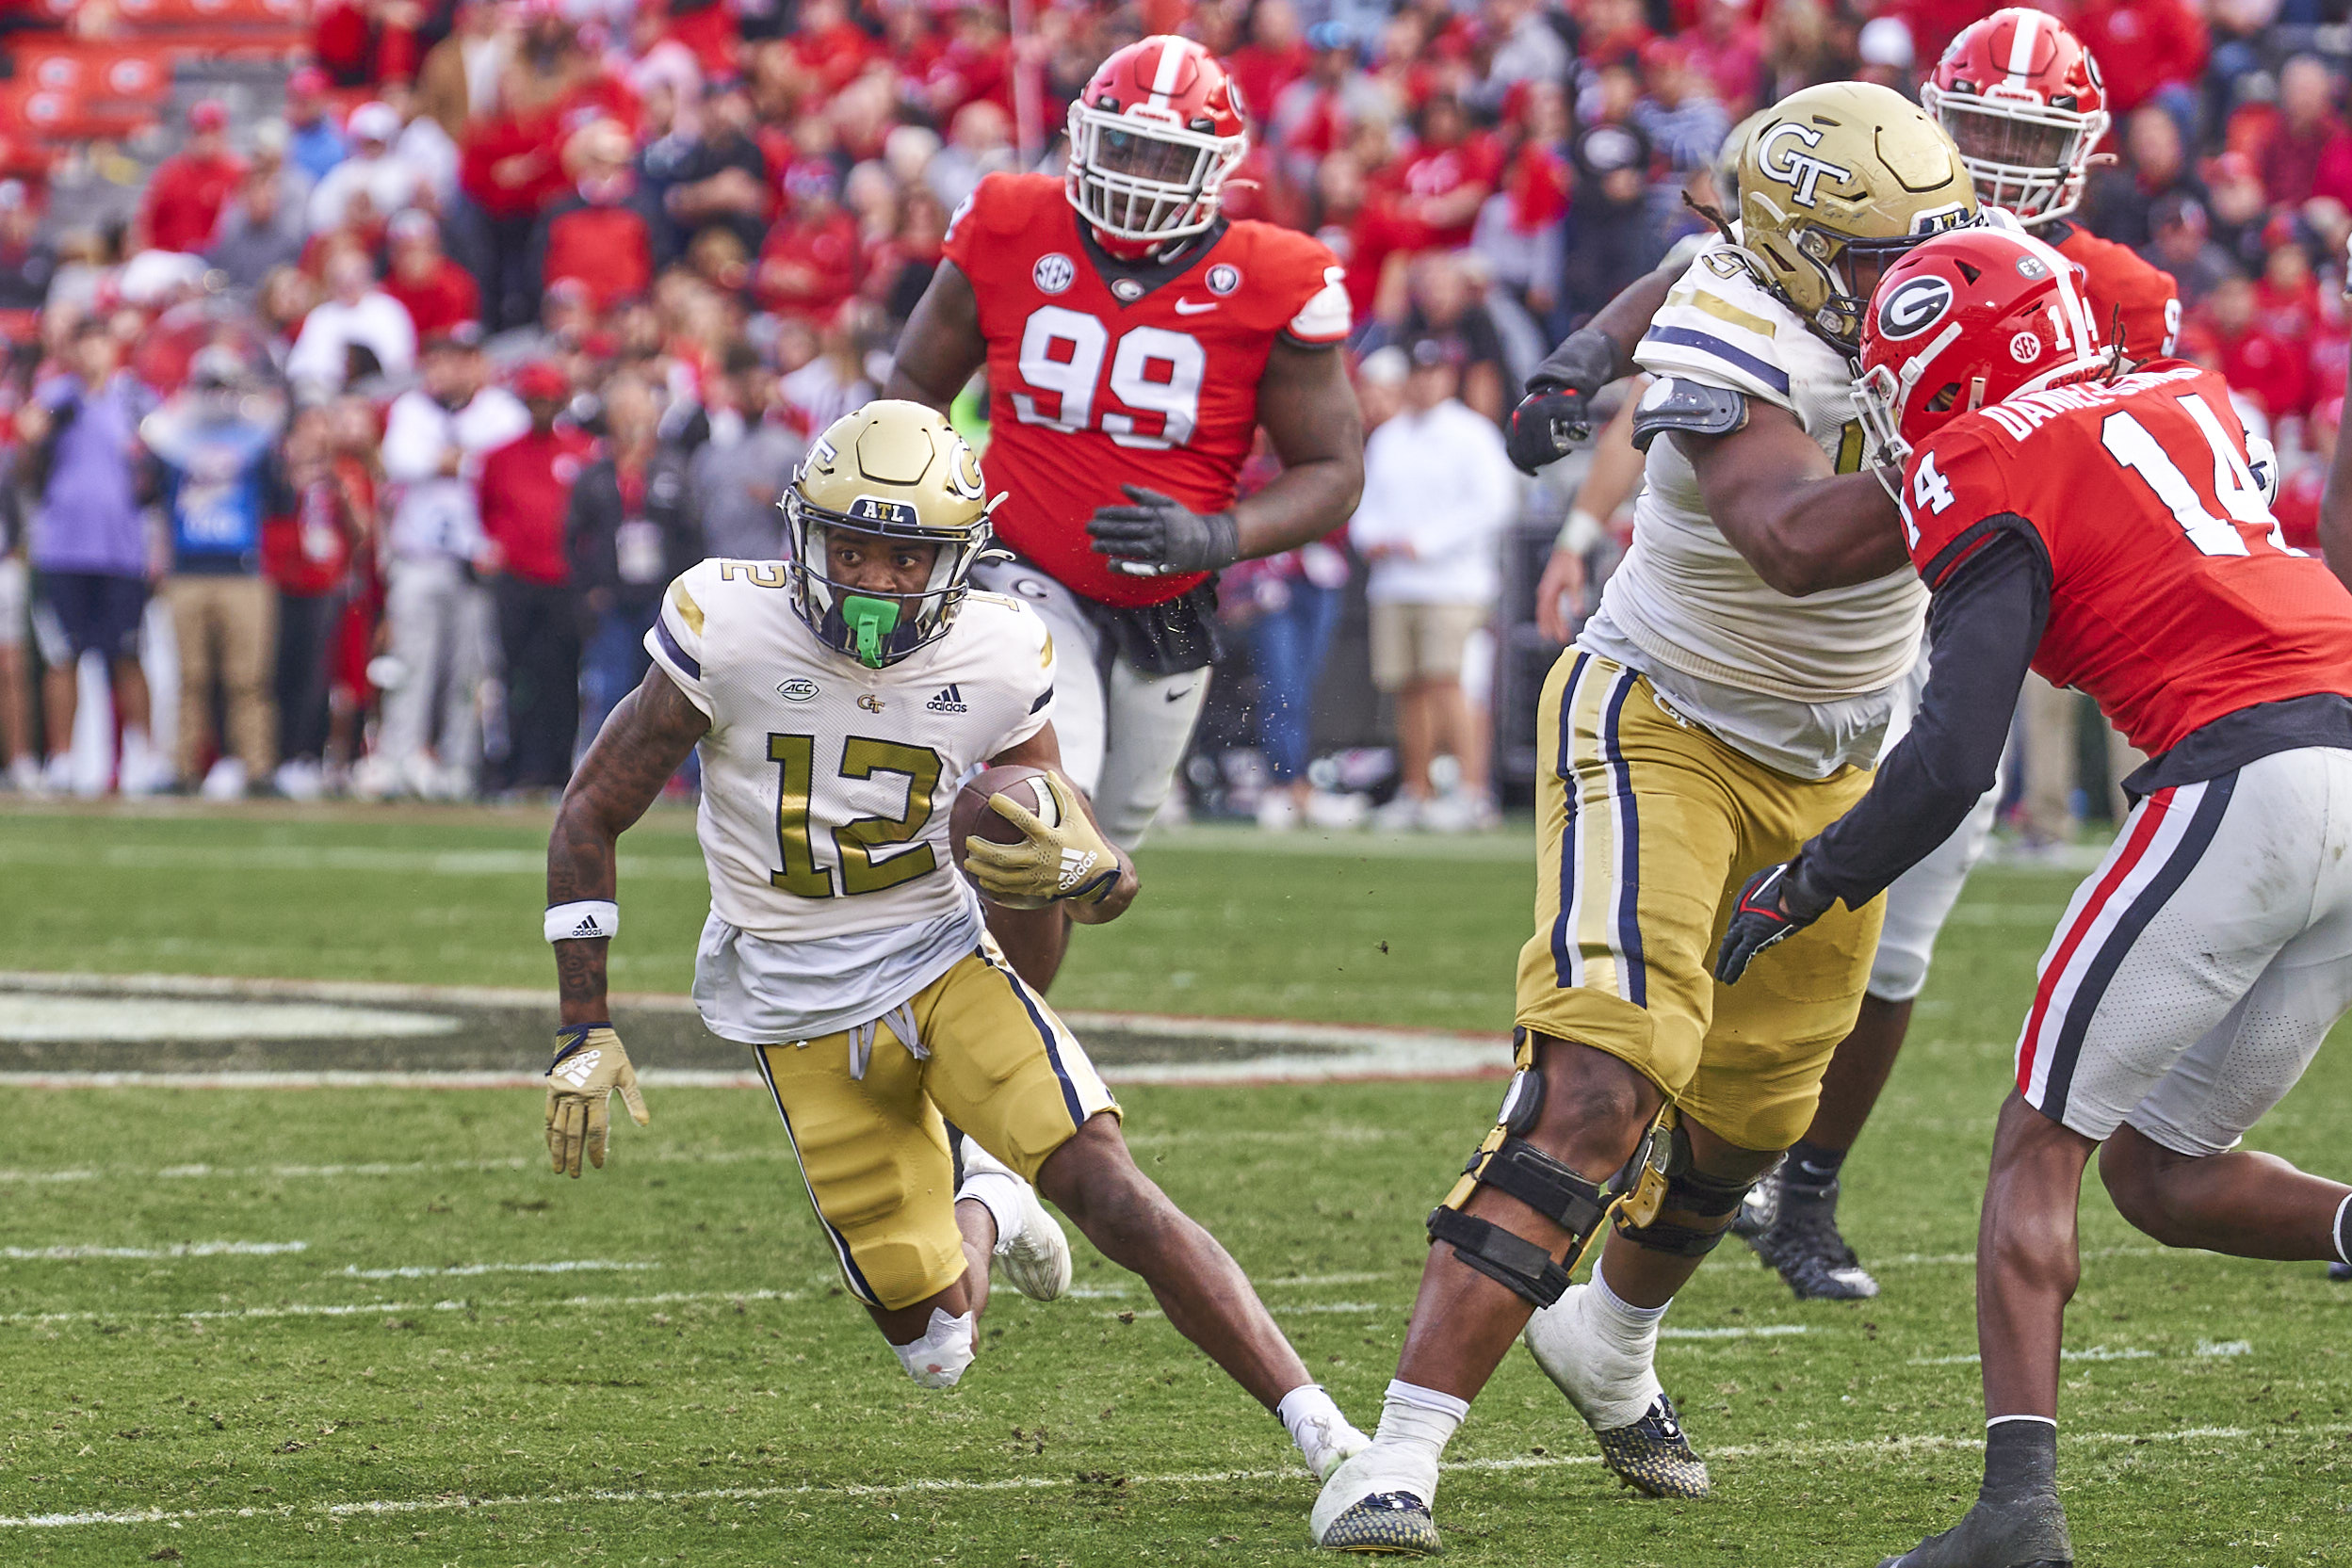
[[1705,1495],[1658,1319],[1804,1133],[1863,997],[1875,903],[1773,947],[1755,994],[1717,992],[1712,959],[1733,907],[1778,896],[1750,886],[1771,846],[1867,790],[1917,656],[1926,595],[1863,468],[1851,353],[1886,263],[1973,223],[1976,193],[1900,94],[1832,82],[1755,127],[1738,195],[1738,235],[1698,252],[1632,355],[1656,376],[1632,548],[1543,691],[1519,1072],[1430,1215],[1381,1429],[1315,1502],[1324,1547],[1437,1549],[1437,1460],[1522,1331],[1621,1479]]

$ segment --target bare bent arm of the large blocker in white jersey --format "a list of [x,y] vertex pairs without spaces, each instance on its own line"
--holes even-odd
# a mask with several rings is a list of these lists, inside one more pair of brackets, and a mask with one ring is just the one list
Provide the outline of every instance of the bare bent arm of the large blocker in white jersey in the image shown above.
[[1748,400],[1731,435],[1677,430],[1708,517],[1766,585],[1804,597],[1910,564],[1903,520],[1872,473],[1842,475],[1797,416]]

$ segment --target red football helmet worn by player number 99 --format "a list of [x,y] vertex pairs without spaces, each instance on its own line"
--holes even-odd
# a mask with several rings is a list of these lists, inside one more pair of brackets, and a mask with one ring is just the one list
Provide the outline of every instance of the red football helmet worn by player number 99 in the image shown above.
[[1070,103],[1070,205],[1120,254],[1216,223],[1249,150],[1242,89],[1190,38],[1160,33],[1105,59]]

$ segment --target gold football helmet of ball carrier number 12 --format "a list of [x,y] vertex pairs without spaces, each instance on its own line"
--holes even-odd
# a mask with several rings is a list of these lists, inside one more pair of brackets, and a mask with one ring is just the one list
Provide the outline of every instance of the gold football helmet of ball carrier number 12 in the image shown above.
[[[793,609],[823,644],[875,670],[946,635],[971,592],[967,578],[988,548],[995,510],[981,458],[948,416],[894,397],[835,418],[809,444],[779,505],[793,552]],[[826,576],[828,529],[938,545],[929,583],[898,597]]]

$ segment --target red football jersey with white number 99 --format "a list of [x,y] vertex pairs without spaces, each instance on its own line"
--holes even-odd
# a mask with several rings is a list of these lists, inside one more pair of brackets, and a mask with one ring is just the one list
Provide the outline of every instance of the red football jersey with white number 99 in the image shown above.
[[1089,599],[1160,604],[1204,574],[1112,571],[1087,520],[1120,484],[1232,505],[1275,339],[1338,343],[1348,289],[1322,242],[1272,223],[1228,223],[1157,282],[1105,277],[1077,223],[1058,179],[990,174],[948,226],[988,339],[981,468],[1009,548]]

